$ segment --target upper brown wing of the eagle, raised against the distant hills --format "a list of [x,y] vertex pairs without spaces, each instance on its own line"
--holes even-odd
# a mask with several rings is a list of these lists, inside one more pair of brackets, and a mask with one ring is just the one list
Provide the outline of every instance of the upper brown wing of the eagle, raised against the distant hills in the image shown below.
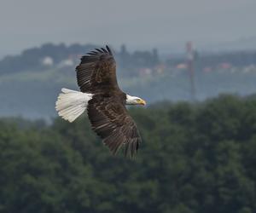
[[108,46],[84,55],[76,67],[80,90],[96,94],[106,89],[119,89],[115,67],[115,60]]

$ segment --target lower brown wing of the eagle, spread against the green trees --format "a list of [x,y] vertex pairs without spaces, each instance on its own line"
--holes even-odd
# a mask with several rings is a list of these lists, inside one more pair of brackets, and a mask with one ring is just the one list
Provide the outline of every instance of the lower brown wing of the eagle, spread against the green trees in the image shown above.
[[124,147],[125,156],[137,153],[141,137],[137,126],[119,97],[95,95],[87,107],[92,129],[101,136],[111,153]]

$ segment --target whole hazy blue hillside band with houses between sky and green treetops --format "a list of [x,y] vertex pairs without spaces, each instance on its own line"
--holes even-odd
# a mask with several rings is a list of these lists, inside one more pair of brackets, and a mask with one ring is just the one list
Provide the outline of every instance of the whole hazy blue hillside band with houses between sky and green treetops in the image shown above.
[[[75,66],[96,45],[44,44],[0,61],[0,116],[55,117],[55,99],[62,87],[78,89]],[[185,56],[162,60],[157,49],[129,52],[114,49],[119,85],[131,95],[154,101],[190,100]],[[195,52],[196,99],[220,93],[256,93],[256,51],[205,55]]]

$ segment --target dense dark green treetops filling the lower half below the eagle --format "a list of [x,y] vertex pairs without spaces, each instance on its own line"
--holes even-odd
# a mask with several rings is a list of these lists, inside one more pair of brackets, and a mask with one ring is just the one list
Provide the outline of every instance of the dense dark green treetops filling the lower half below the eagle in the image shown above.
[[0,212],[256,212],[255,98],[131,114],[143,135],[135,160],[110,156],[85,118],[1,119]]

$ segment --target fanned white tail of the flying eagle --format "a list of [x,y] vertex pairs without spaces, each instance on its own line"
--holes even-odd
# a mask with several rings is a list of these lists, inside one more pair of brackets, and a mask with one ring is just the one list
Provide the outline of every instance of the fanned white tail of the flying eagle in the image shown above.
[[61,118],[73,122],[84,112],[92,95],[62,88],[55,109]]

